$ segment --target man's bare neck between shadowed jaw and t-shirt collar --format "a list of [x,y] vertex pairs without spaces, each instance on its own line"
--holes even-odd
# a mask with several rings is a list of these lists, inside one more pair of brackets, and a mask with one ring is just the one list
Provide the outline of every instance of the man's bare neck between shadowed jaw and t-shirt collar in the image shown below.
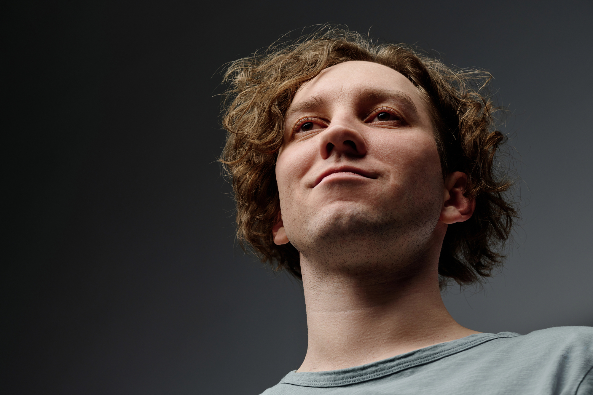
[[364,365],[479,333],[455,322],[445,308],[438,256],[412,277],[316,267],[327,266],[301,255],[309,341],[299,372]]

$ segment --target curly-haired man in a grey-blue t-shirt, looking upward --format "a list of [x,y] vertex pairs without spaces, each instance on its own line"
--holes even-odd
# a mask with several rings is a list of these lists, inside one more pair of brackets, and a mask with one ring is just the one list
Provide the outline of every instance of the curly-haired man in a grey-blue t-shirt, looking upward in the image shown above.
[[305,360],[264,394],[592,393],[591,328],[480,333],[442,302],[516,216],[483,77],[340,30],[229,66],[238,236],[307,305]]

